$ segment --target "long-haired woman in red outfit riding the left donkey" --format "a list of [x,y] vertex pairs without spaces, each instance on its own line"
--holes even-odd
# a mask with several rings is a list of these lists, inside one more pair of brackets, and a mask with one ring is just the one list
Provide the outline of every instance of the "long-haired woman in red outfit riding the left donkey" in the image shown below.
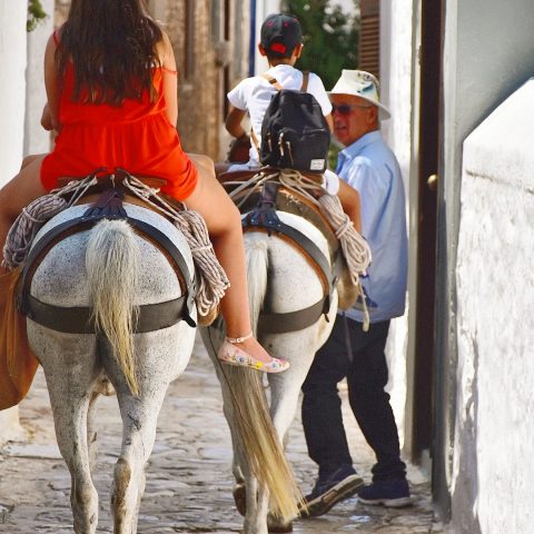
[[22,208],[61,177],[120,167],[164,178],[162,192],[204,217],[230,280],[220,303],[228,338],[219,357],[285,370],[288,363],[271,358],[251,335],[240,215],[216,180],[212,161],[191,161],[181,149],[175,55],[142,0],[72,0],[68,20],[48,41],[44,83],[41,123],[58,134],[55,147],[27,157],[0,190],[0,245]]

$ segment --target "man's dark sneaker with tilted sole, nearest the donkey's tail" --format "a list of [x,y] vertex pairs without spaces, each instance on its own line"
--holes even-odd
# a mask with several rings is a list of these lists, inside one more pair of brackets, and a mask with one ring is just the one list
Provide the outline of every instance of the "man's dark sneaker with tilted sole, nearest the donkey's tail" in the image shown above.
[[339,467],[328,476],[320,476],[313,492],[304,498],[306,506],[300,508],[300,517],[318,517],[326,514],[335,504],[353,496],[364,481],[353,466]]

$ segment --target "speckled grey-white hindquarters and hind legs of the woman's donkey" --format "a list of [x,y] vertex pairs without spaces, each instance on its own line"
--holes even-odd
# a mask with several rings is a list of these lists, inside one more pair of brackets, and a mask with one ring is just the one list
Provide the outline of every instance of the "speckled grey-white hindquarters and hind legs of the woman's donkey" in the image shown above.
[[[170,237],[190,273],[194,271],[187,244],[170,222],[145,208],[129,205],[126,208],[128,215]],[[80,206],[61,212],[36,239],[85,209]],[[92,246],[95,254],[86,254],[88,246]],[[128,324],[125,317],[132,306],[178,298],[181,289],[176,273],[166,256],[136,235],[127,222],[105,220],[53,246],[36,270],[31,295],[60,307],[90,307],[100,303],[107,309],[106,316],[118,317],[117,335],[107,336],[111,342],[93,334],[56,332],[30,319],[28,336],[44,370],[58,445],[71,474],[70,500],[77,534],[97,531],[98,494],[90,472],[93,419],[98,415],[93,403],[101,380],[108,377],[112,383],[123,425],[111,488],[113,532],[135,534],[157,417],[169,383],[189,362],[195,329],[180,322],[168,328],[130,335],[123,330]],[[128,347],[125,353],[125,346],[117,343],[130,342],[128,362]],[[131,384],[137,384],[138,395],[131,393]]]

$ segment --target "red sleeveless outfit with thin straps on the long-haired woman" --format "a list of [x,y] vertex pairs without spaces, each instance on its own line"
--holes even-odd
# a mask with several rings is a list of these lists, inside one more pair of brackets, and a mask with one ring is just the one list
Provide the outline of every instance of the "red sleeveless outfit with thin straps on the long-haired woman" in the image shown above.
[[152,72],[156,101],[150,102],[145,91],[141,100],[125,99],[117,107],[73,102],[75,72],[68,65],[59,105],[62,128],[41,166],[44,189],[57,188],[61,177],[85,178],[100,167],[111,174],[120,167],[134,176],[164,178],[167,185],[161,191],[177,200],[192,192],[197,169],[165,115],[164,69]]

